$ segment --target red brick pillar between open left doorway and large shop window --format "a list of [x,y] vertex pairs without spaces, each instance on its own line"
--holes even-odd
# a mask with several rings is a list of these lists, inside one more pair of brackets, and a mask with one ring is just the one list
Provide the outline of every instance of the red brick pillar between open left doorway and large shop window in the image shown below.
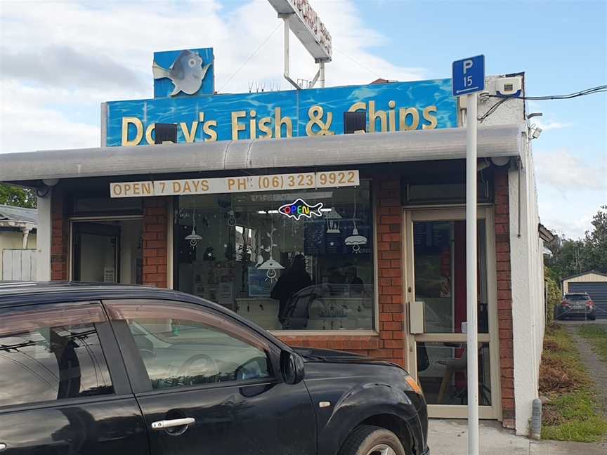
[[143,199],[143,284],[167,287],[168,199]]

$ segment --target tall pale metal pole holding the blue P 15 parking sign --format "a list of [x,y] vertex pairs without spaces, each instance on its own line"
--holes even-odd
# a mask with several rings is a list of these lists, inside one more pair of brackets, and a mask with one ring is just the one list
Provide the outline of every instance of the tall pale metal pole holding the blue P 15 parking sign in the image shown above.
[[466,311],[468,455],[478,455],[478,324],[476,321],[476,93],[466,100]]

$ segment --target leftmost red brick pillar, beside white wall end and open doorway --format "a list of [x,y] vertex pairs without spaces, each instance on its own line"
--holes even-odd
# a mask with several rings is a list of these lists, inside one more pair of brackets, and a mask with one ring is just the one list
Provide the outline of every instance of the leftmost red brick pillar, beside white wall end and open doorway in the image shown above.
[[51,193],[51,280],[67,281],[70,221],[67,220],[65,195],[55,189]]

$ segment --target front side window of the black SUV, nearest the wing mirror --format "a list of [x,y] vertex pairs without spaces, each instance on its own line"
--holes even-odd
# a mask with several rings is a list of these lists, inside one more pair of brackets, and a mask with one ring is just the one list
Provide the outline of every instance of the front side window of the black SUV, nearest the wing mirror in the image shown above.
[[106,303],[129,326],[153,390],[273,377],[265,340],[188,303]]

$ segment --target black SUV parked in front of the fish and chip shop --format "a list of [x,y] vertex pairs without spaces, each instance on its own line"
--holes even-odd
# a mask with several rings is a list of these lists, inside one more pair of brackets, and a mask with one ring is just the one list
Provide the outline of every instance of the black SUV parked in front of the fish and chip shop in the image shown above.
[[195,296],[0,283],[0,455],[426,455],[427,426],[400,367]]

